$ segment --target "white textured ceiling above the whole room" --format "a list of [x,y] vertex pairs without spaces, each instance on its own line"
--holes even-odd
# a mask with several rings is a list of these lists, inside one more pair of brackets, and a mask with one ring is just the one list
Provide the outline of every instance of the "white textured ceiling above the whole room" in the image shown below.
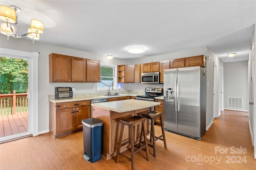
[[[256,1],[1,0],[16,5],[18,34],[31,19],[44,23],[39,42],[120,59],[136,59],[208,46],[224,62],[248,59]],[[140,45],[142,54],[127,48]],[[236,60],[227,53],[236,52]]]

